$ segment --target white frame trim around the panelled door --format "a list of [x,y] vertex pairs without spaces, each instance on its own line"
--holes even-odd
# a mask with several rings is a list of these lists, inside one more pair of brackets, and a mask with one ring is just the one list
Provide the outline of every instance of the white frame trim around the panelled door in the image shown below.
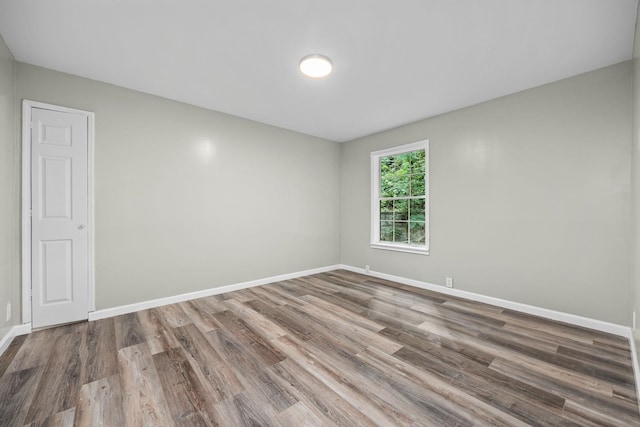
[[22,323],[31,323],[31,109],[41,108],[61,113],[80,114],[87,117],[87,174],[88,174],[88,301],[87,313],[95,311],[95,217],[93,198],[93,168],[95,114],[90,111],[43,102],[22,101]]

